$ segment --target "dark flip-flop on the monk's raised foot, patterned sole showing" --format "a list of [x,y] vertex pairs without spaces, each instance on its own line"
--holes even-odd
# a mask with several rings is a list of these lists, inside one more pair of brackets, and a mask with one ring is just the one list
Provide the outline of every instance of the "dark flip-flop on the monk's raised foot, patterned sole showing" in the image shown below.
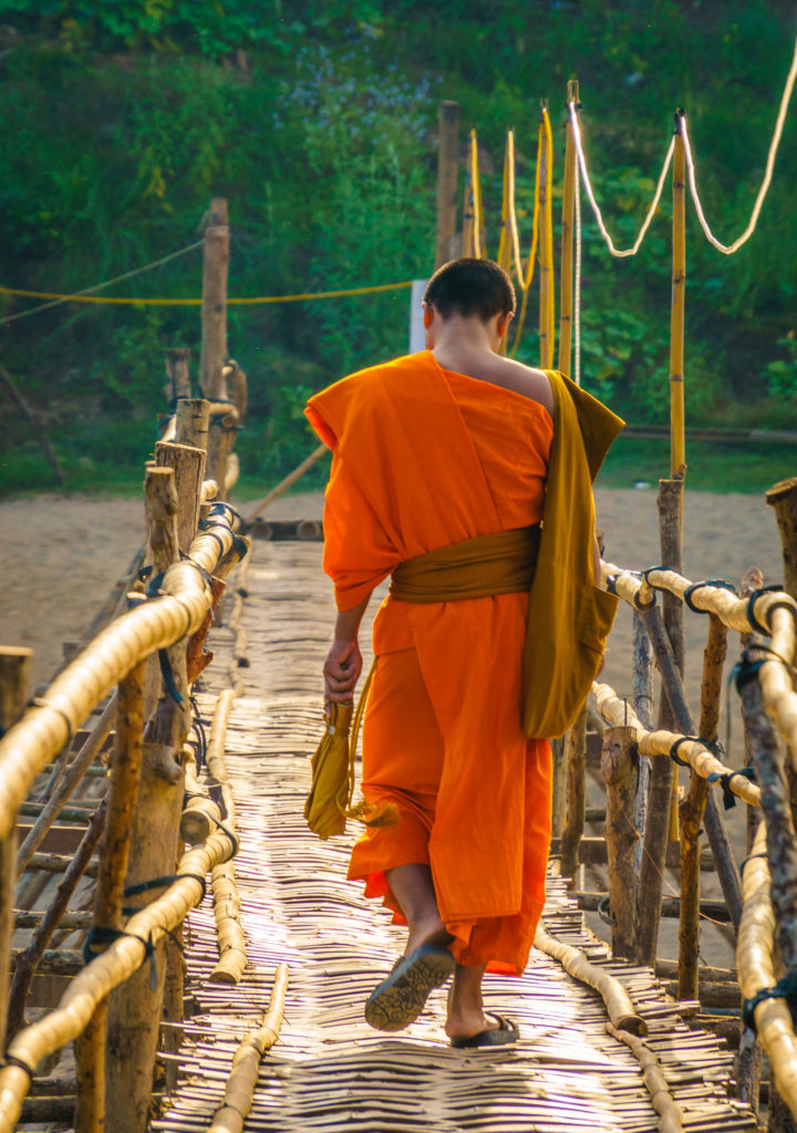
[[392,972],[368,996],[365,1021],[378,1031],[400,1031],[418,1017],[430,993],[439,988],[456,968],[448,948],[422,944],[393,966]]

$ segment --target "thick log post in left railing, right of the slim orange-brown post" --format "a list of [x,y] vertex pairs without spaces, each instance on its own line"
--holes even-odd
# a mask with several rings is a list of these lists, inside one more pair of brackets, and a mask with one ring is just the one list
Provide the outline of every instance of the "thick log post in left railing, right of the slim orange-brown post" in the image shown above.
[[[150,548],[154,569],[166,570],[177,557],[177,493],[171,468],[150,467],[145,480]],[[175,688],[181,702],[167,693],[147,725],[142,757],[138,804],[130,838],[127,885],[147,885],[175,871],[185,775],[178,753],[188,732],[185,642],[168,650]],[[166,883],[168,884],[168,883]],[[158,891],[127,900],[147,904]],[[161,942],[130,979],[110,998],[108,1010],[107,1113],[113,1133],[143,1133],[152,1097],[152,1074],[164,986]],[[152,981],[152,982],[151,982]]]

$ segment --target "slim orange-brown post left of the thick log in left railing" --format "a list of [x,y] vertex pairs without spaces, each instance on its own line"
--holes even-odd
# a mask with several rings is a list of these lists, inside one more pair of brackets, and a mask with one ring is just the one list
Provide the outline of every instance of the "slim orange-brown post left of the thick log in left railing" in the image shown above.
[[[94,925],[100,932],[118,931],[122,926],[121,903],[141,778],[145,670],[145,663],[139,662],[119,684],[105,844],[94,894]],[[75,1133],[102,1133],[104,1127],[107,1026],[108,999],[104,999],[75,1040]]]

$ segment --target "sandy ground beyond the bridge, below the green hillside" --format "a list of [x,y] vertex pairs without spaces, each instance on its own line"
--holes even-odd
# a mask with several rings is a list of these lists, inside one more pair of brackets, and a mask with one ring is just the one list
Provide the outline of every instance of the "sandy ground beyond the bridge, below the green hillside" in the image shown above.
[[[655,491],[599,489],[599,526],[605,533],[605,556],[624,566],[655,565],[659,553]],[[241,505],[244,514],[252,504]],[[277,501],[269,511],[274,519],[319,518],[320,493]],[[0,642],[24,645],[34,650],[34,684],[45,684],[60,662],[62,642],[79,638],[102,605],[117,578],[144,537],[141,500],[92,500],[85,497],[36,496],[0,503],[3,590],[0,604]],[[254,553],[257,553],[255,544]],[[780,544],[774,514],[763,499],[747,495],[688,493],[685,509],[685,573],[693,581],[726,578],[738,581],[751,564],[757,564],[765,581],[782,578]],[[621,604],[610,640],[604,680],[620,693],[631,690],[631,616]],[[706,619],[687,617],[686,683],[696,713],[700,695],[702,650]],[[731,634],[729,664],[738,655],[738,636]],[[743,760],[741,723],[734,693],[732,736],[729,761]],[[722,725],[724,735],[724,724]],[[681,773],[682,775],[682,773]],[[590,803],[600,802],[593,785]],[[729,812],[729,829],[737,855],[744,855],[744,808]],[[586,878],[587,887],[600,884]],[[675,877],[665,892],[675,893]],[[704,875],[704,893],[719,896],[715,877]],[[594,918],[601,935],[605,928]],[[665,923],[660,955],[677,954],[676,922]],[[730,965],[732,951],[727,939],[707,928],[701,951],[710,963]]]

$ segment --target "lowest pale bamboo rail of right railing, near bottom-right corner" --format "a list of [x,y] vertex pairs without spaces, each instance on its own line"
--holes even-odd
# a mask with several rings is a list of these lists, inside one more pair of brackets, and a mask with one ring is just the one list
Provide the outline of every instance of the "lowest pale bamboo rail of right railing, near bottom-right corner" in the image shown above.
[[[736,965],[745,999],[752,999],[777,982],[773,961],[775,929],[766,860],[766,825],[756,832],[743,877],[744,909],[736,944]],[[754,1010],[761,1043],[770,1057],[778,1090],[797,1114],[797,1036],[785,999],[763,999]]]

